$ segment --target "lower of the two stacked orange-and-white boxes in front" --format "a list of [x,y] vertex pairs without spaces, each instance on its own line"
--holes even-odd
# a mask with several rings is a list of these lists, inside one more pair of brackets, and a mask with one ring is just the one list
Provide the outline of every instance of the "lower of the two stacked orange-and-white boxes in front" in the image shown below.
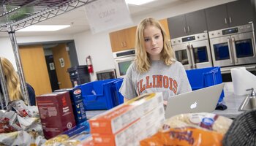
[[[126,146],[128,143],[139,144],[140,139],[144,139],[152,133],[154,134],[164,119],[165,115],[163,105],[159,105],[157,108],[151,110],[134,123],[131,123],[126,128],[118,131],[117,134],[92,134],[92,137],[94,138],[94,145]],[[153,125],[154,127],[152,127]],[[148,128],[152,128],[152,130]],[[148,134],[146,134],[146,131],[148,131]]]

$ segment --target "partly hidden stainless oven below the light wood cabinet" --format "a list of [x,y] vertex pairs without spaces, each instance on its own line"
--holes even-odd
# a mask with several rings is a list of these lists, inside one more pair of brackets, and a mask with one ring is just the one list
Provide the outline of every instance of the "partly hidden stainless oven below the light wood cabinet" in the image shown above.
[[116,66],[116,77],[124,77],[127,69],[135,59],[135,50],[124,50],[113,53]]

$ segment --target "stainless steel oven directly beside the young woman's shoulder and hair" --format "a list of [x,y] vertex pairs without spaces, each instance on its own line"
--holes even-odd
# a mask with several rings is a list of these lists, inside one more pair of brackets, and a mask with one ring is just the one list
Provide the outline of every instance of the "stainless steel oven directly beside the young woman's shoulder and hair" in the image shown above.
[[178,37],[170,41],[177,61],[180,61],[185,69],[200,69],[212,66],[207,32]]

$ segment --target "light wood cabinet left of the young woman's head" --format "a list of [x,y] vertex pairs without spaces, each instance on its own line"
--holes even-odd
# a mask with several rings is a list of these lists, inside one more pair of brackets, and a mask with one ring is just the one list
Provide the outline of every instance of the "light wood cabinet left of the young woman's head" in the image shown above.
[[135,47],[135,34],[137,26],[114,31],[109,34],[112,52],[129,50]]

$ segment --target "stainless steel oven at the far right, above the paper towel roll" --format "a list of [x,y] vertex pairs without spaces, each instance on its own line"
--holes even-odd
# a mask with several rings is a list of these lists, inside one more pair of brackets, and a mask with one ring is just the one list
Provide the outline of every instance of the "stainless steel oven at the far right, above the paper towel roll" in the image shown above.
[[214,66],[255,64],[253,24],[209,31]]

